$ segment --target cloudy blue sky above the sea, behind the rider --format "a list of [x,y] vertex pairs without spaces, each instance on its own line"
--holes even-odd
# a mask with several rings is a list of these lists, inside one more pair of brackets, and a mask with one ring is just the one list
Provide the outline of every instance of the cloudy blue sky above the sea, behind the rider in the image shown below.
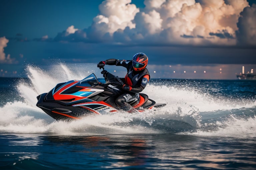
[[[152,78],[256,73],[255,0],[1,0],[0,76],[149,57]],[[93,66],[92,66],[93,67]],[[108,66],[125,74],[125,68]],[[90,68],[89,70],[91,70]],[[98,71],[98,70],[97,70]]]

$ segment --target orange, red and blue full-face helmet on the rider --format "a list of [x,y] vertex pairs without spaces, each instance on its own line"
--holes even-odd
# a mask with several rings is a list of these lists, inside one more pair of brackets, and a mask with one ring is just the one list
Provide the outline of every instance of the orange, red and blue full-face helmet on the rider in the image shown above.
[[144,53],[137,53],[132,57],[132,66],[135,71],[142,71],[148,64],[148,57]]

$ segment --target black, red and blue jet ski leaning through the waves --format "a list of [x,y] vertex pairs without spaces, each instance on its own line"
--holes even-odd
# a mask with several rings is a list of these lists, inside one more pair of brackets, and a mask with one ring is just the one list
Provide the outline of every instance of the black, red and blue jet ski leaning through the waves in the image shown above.
[[[108,71],[101,72],[104,79],[98,80],[96,75],[83,80],[71,80],[57,84],[48,93],[37,96],[36,106],[57,121],[82,119],[89,115],[102,115],[117,112],[116,98],[125,91],[123,81]],[[139,103],[129,103],[137,112],[163,107],[156,104],[146,94],[139,93]]]

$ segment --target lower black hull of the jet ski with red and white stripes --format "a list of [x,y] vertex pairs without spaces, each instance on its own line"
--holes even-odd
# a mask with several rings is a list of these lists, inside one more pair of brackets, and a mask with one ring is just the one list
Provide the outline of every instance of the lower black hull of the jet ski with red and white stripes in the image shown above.
[[[143,103],[139,107],[134,106],[136,110],[143,112],[144,110],[152,109],[155,105],[155,101],[149,99],[146,94],[140,93],[140,95],[143,97]],[[108,98],[105,102],[94,101],[89,103],[76,103],[73,105],[66,105],[61,101],[55,101],[53,99],[47,100],[47,98],[47,93],[37,96],[38,102],[36,106],[57,121],[77,120],[86,116],[109,114],[118,110],[116,104],[113,103],[113,98]]]

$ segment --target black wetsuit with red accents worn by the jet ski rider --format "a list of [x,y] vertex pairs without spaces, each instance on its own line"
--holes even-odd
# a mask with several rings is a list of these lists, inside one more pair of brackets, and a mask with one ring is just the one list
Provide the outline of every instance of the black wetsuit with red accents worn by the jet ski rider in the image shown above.
[[[134,71],[132,60],[108,59],[104,62],[107,65],[123,66],[127,69],[127,74],[122,81],[129,86],[129,90],[127,89],[126,93],[116,99],[116,104],[123,110],[130,110],[131,105],[139,103],[139,92],[146,87],[150,79],[148,70],[145,68],[142,71]],[[128,102],[131,102],[131,105]]]

